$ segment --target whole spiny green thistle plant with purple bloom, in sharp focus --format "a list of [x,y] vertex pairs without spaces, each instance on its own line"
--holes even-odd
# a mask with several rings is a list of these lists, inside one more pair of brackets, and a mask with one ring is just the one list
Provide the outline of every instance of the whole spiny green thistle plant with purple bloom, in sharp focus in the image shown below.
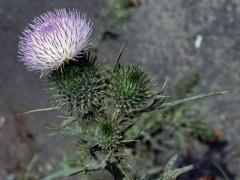
[[41,73],[53,109],[66,113],[58,132],[71,136],[76,145],[75,157],[48,180],[98,170],[110,172],[114,179],[133,178],[125,147],[137,136],[126,133],[138,117],[219,94],[169,102],[165,86],[154,87],[143,68],[120,63],[125,47],[113,67],[101,63],[91,49],[91,33],[92,23],[84,14],[61,9],[34,19],[20,39],[21,61],[28,70]]

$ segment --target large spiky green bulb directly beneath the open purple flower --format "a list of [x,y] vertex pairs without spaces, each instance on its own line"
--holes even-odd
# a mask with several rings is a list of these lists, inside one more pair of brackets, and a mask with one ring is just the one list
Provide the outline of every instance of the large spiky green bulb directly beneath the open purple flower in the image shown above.
[[48,78],[48,89],[54,104],[72,116],[97,111],[105,97],[106,78],[96,57],[84,53],[54,70]]

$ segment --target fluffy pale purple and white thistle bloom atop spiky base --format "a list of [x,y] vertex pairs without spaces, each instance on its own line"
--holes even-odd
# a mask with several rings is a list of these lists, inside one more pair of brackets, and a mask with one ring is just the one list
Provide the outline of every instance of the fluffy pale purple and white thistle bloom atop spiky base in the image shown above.
[[92,23],[76,10],[48,12],[33,20],[20,37],[21,61],[42,75],[74,59],[90,43]]

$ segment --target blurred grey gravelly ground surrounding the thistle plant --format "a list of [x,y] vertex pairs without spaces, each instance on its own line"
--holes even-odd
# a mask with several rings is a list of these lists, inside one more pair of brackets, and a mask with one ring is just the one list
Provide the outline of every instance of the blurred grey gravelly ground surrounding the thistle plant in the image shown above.
[[[21,170],[32,157],[26,158],[26,154],[40,152],[49,158],[56,154],[53,145],[67,143],[62,137],[47,135],[45,127],[57,121],[54,113],[16,121],[18,112],[49,107],[39,76],[17,62],[20,32],[33,17],[61,7],[86,12],[98,29],[100,22],[95,16],[102,1],[0,0],[0,122],[6,120],[0,127],[0,179]],[[225,132],[231,154],[240,149],[239,30],[239,0],[142,0],[126,33],[118,41],[107,41],[100,53],[112,59],[128,41],[123,60],[142,64],[159,84],[166,78],[172,84],[186,72],[196,71],[203,79],[198,92],[230,90],[231,94],[212,101],[210,113],[213,123]],[[230,169],[239,172],[237,158]]]

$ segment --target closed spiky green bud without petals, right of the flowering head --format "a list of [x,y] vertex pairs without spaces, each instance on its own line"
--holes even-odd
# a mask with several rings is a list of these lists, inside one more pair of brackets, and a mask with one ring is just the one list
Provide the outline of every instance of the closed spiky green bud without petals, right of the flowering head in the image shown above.
[[151,96],[151,80],[138,66],[121,66],[111,82],[115,106],[124,111],[141,107]]

